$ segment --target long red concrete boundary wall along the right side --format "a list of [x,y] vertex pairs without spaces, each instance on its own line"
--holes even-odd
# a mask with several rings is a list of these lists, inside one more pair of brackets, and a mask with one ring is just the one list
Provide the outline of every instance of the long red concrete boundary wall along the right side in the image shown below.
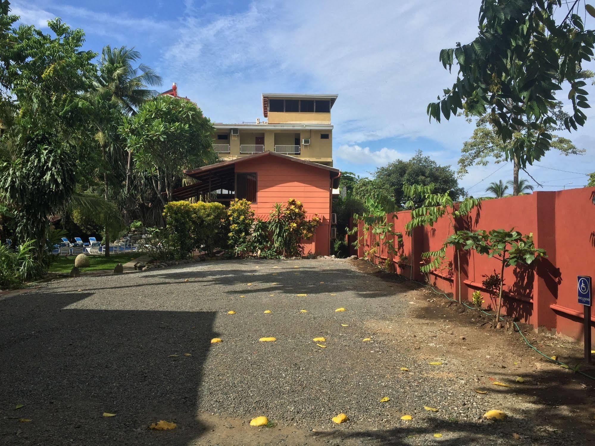
[[[519,321],[534,327],[555,329],[559,334],[580,339],[583,337],[583,307],[577,303],[577,275],[595,278],[595,205],[592,200],[595,188],[583,188],[557,192],[536,192],[518,197],[484,200],[464,219],[452,222],[442,218],[434,227],[418,228],[411,237],[405,235],[409,212],[389,215],[394,230],[403,232],[403,252],[414,263],[414,278],[424,279],[419,272],[421,253],[437,250],[453,228],[467,230],[511,229],[524,234],[533,233],[537,247],[547,251],[547,259],[537,262],[533,268],[506,268],[504,274],[504,310]],[[358,256],[364,257],[379,241],[372,234],[363,234],[359,229],[361,247]],[[411,255],[413,250],[414,255]],[[371,261],[384,265],[390,256],[386,249],[378,249]],[[396,258],[392,258],[396,267]],[[461,299],[471,300],[475,290],[481,291],[484,306],[493,309],[481,282],[484,275],[500,272],[496,259],[464,252],[459,266],[453,249],[447,250],[446,260],[437,271],[428,275],[431,284],[458,298],[458,272],[461,272]],[[396,269],[394,271],[397,271]],[[409,277],[409,269],[399,269]],[[595,315],[591,318],[595,322]],[[595,326],[595,325],[594,325]],[[595,339],[595,329],[592,338]]]

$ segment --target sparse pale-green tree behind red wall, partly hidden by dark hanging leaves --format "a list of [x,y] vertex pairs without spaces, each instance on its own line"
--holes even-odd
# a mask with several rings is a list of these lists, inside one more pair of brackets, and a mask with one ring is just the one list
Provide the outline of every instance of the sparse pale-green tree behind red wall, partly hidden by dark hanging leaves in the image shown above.
[[[591,75],[588,74],[588,76]],[[553,112],[556,115],[556,121],[560,123],[560,125],[558,125],[558,127],[550,125],[548,130],[550,132],[563,130],[562,123],[565,118],[569,117],[569,115],[563,111],[562,102],[558,101],[555,103]],[[490,161],[493,161],[496,164],[508,161],[506,154],[511,150],[511,142],[503,142],[498,136],[496,128],[490,124],[490,115],[484,115],[477,120],[476,124],[477,127],[473,131],[471,138],[465,141],[461,149],[461,158],[459,158],[458,161],[459,169],[457,171],[459,178],[466,175],[471,166],[487,166]],[[579,149],[575,146],[568,138],[556,134],[552,134],[551,145],[565,156],[582,155],[586,152],[585,149]],[[520,192],[518,187],[519,164],[518,162],[515,162],[514,158],[512,161],[512,194],[516,195]],[[517,193],[515,193],[515,191]]]

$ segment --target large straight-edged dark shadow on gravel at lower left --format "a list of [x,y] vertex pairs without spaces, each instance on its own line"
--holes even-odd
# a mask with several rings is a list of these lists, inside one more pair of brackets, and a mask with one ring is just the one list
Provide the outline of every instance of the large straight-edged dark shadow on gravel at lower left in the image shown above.
[[0,301],[0,444],[186,446],[215,313],[67,309],[90,295]]

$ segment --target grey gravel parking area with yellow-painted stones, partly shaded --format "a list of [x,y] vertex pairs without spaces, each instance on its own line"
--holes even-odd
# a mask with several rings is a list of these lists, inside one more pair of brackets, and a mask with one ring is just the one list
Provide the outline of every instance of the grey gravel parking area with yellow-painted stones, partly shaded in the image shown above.
[[[449,372],[456,358],[422,354],[403,335],[408,293],[420,292],[349,260],[232,260],[65,279],[7,297],[0,444],[510,444],[527,420],[482,421],[498,407],[475,392],[471,373]],[[333,425],[338,413],[350,422]],[[205,421],[262,414],[283,435],[218,441],[212,425],[236,425]],[[178,428],[147,429],[161,419]]]

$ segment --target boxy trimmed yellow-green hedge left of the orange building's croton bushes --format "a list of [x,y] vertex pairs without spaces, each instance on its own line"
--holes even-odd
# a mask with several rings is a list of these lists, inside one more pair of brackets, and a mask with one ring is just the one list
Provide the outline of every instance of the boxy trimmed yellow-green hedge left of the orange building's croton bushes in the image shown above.
[[221,203],[169,202],[163,216],[181,259],[193,250],[211,253],[226,246],[227,210]]

